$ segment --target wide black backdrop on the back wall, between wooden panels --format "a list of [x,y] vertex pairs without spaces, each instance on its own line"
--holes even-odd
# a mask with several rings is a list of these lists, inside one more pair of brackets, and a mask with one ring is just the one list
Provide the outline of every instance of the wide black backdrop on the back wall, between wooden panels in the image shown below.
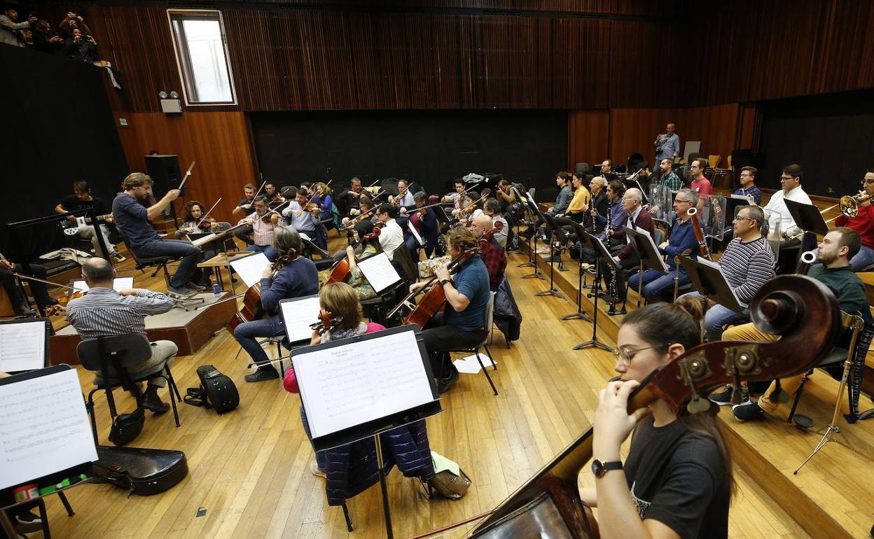
[[406,177],[442,192],[468,172],[555,186],[567,163],[564,110],[252,113],[260,171],[280,185]]

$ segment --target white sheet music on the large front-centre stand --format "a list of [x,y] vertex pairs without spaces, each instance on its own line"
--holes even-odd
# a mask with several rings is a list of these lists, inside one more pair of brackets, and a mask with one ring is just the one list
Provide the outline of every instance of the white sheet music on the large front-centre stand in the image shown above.
[[415,331],[292,357],[313,438],[434,400]]

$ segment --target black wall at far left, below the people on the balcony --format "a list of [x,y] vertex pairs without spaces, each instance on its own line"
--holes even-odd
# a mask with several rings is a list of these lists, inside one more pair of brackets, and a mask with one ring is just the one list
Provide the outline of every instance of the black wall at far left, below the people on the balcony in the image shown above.
[[55,224],[31,226],[24,252],[10,252],[7,223],[51,215],[73,181],[87,180],[108,199],[128,174],[101,77],[105,69],[42,52],[0,45],[3,103],[3,225],[0,250],[34,259],[69,240]]

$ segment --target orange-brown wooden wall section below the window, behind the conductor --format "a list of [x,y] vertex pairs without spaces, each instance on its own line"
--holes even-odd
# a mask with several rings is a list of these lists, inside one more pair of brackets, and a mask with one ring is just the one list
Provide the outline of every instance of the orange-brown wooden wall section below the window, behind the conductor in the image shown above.
[[152,149],[179,155],[179,166],[183,170],[197,161],[191,178],[185,183],[186,200],[199,200],[209,209],[221,197],[215,211],[219,220],[231,218],[231,210],[243,197],[244,184],[260,184],[253,164],[246,116],[241,112],[177,116],[116,113],[119,115],[128,119],[128,127],[120,127],[119,133],[130,169],[145,171],[142,156]]

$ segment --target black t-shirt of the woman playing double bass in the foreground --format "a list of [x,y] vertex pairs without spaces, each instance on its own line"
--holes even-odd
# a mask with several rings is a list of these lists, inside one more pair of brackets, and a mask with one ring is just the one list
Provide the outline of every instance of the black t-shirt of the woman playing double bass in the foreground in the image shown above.
[[655,427],[646,418],[624,467],[642,519],[662,522],[683,539],[728,537],[731,487],[716,440],[680,421]]

